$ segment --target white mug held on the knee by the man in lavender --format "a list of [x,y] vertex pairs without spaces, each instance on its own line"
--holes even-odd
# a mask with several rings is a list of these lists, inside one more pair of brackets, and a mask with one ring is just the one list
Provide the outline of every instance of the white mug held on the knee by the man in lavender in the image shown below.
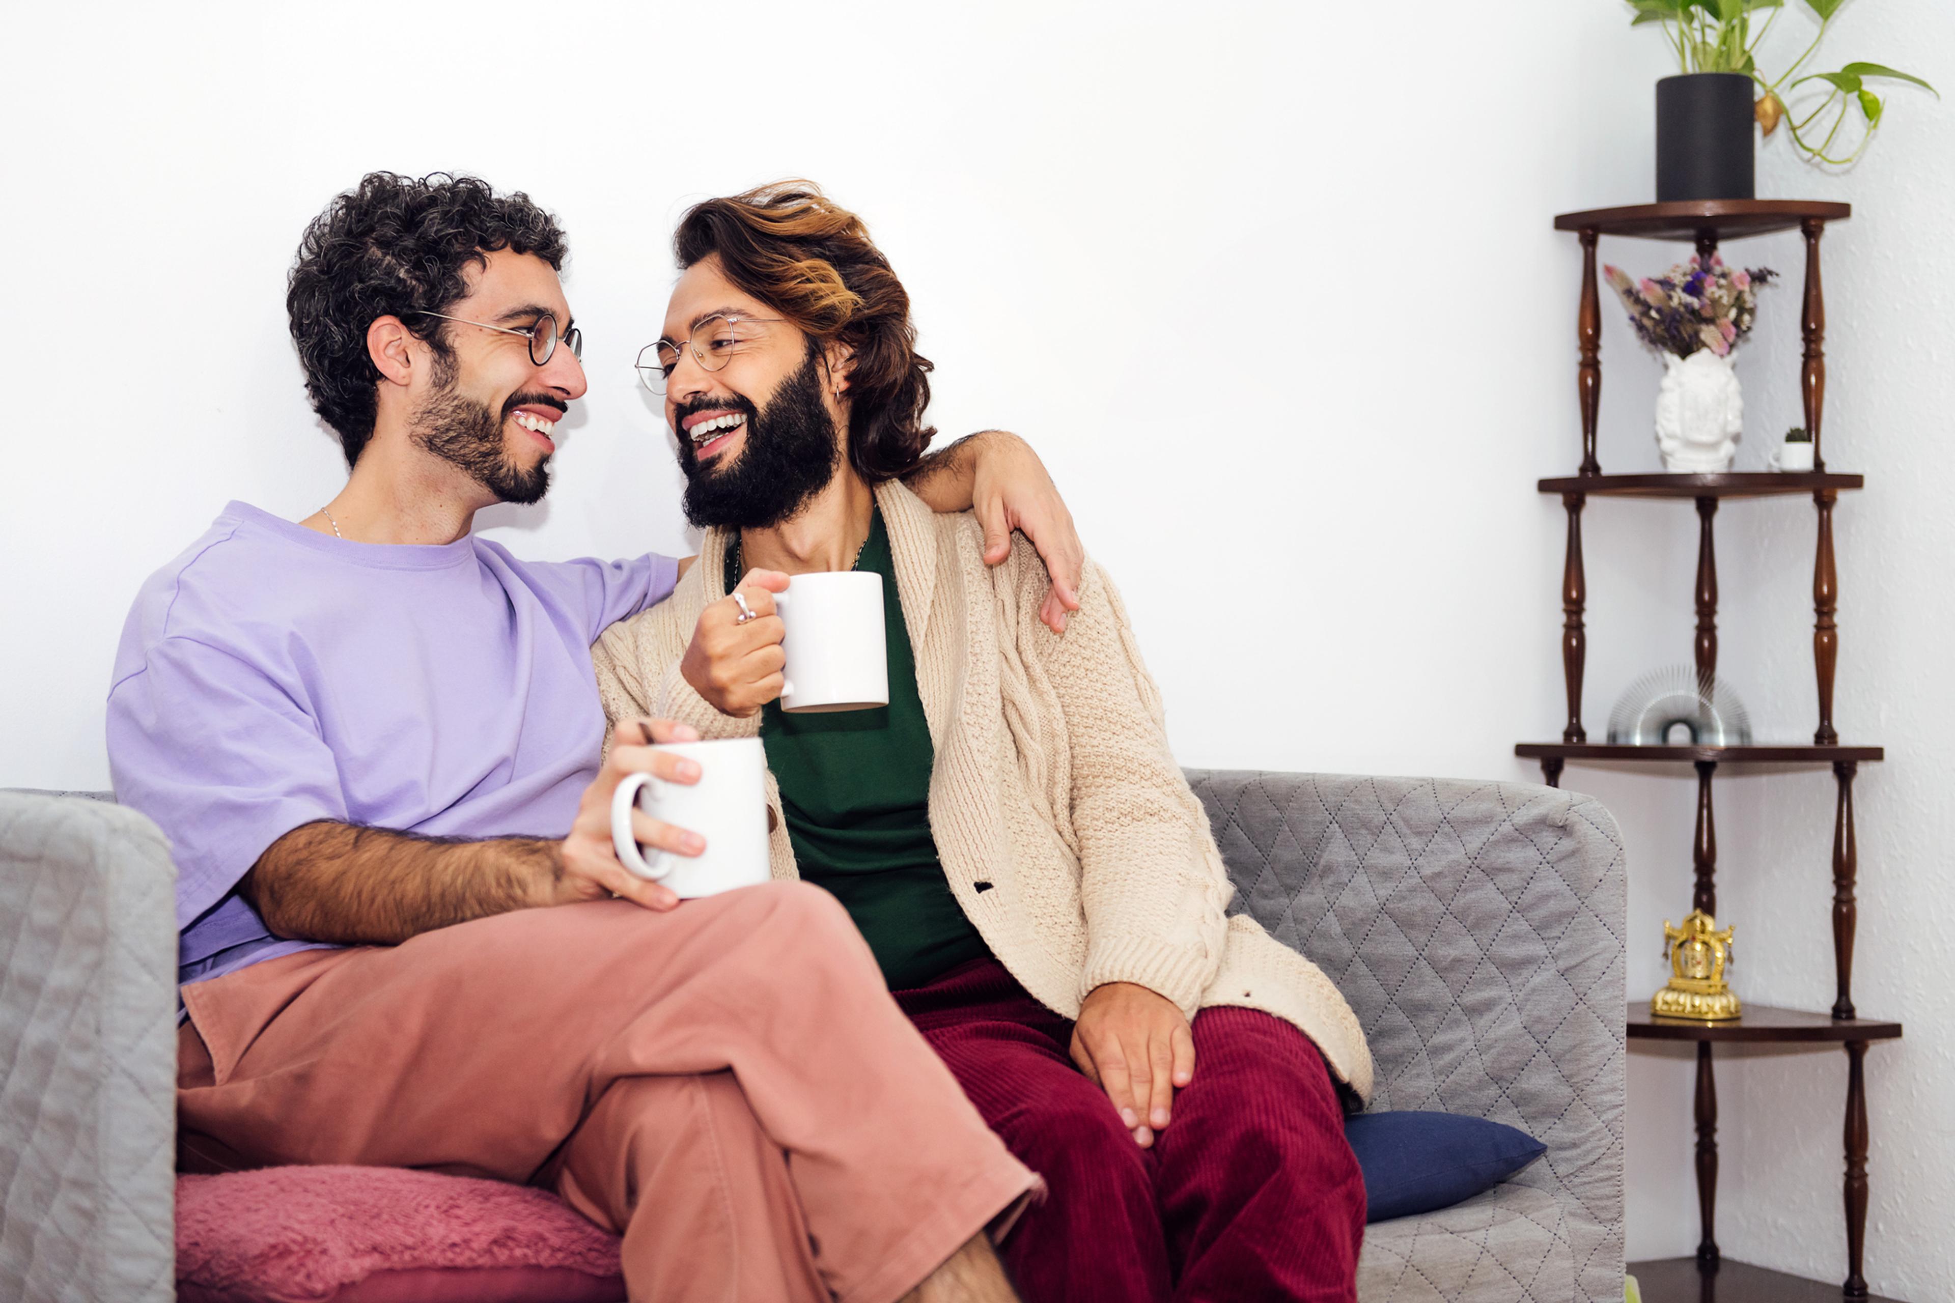
[[[669,783],[653,774],[631,774],[612,793],[612,846],[618,862],[637,877],[665,883],[680,899],[714,897],[735,887],[755,887],[772,877],[766,858],[766,752],[760,738],[717,742],[661,742],[653,750],[684,756],[700,766],[698,783]],[[643,793],[643,795],[639,795]],[[631,836],[631,811],[698,832],[698,856],[653,852],[645,862]]]

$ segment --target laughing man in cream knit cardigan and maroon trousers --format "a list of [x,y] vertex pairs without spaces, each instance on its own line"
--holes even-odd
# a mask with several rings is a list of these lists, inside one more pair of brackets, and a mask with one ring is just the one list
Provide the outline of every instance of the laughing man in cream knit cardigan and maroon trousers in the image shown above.
[[[847,906],[895,1000],[1050,1198],[1005,1240],[1030,1301],[1351,1299],[1370,1055],[1253,920],[1169,754],[1107,574],[1048,574],[903,486],[931,363],[868,231],[805,182],[696,205],[641,369],[706,525],[673,600],[594,649],[614,719],[759,735],[778,879]],[[792,576],[884,580],[890,701],[780,709]],[[864,1065],[874,1071],[874,1065]]]

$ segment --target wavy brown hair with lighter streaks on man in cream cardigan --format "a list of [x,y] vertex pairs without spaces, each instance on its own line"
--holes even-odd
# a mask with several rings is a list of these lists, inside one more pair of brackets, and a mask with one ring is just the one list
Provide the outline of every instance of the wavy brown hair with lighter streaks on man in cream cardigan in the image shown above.
[[850,352],[848,465],[870,484],[907,475],[936,434],[931,359],[909,291],[862,219],[813,182],[774,182],[692,205],[673,234],[680,270],[714,254],[729,281],[819,344]]

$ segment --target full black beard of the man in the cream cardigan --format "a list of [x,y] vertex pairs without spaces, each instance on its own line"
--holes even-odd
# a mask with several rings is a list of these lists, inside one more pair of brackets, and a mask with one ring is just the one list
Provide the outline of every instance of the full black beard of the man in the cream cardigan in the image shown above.
[[[747,414],[745,438],[731,465],[702,463],[692,440],[678,434],[678,465],[686,473],[686,520],[706,529],[772,529],[792,520],[835,479],[841,447],[835,418],[821,402],[819,352],[807,350],[802,369],[780,383],[764,408],[745,395],[735,400],[700,399],[692,410],[733,408]],[[676,420],[686,418],[676,412]]]

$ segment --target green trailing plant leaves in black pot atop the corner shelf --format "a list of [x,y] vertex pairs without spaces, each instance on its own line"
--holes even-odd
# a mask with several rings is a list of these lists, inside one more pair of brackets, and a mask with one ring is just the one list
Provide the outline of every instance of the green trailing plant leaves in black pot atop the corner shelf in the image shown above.
[[[1670,43],[1677,51],[1677,64],[1683,72],[1740,72],[1752,78],[1760,90],[1758,125],[1769,137],[1783,121],[1787,133],[1793,137],[1793,145],[1818,162],[1836,166],[1853,162],[1867,148],[1867,143],[1873,141],[1873,133],[1881,129],[1881,119],[1887,115],[1887,102],[1867,90],[1869,80],[1912,82],[1932,92],[1937,100],[1941,98],[1941,92],[1912,72],[1900,72],[1879,63],[1849,63],[1838,72],[1806,72],[1801,76],[1799,70],[1818,51],[1834,14],[1840,12],[1846,0],[1801,0],[1801,4],[1818,16],[1820,29],[1806,47],[1806,53],[1793,61],[1793,66],[1775,80],[1767,80],[1758,70],[1756,51],[1765,33],[1771,31],[1771,25],[1779,21],[1787,0],[1629,0],[1629,6],[1636,10],[1632,25],[1660,23],[1664,35],[1670,37]],[[1771,10],[1771,14],[1765,14],[1763,21],[1754,25],[1760,10]],[[1793,117],[1785,107],[1783,96],[1810,82],[1824,84],[1826,98],[1803,119]],[[1865,129],[1859,133],[1859,145],[1849,154],[1834,156],[1832,150],[1840,139],[1840,129],[1855,113],[1865,123]]]

